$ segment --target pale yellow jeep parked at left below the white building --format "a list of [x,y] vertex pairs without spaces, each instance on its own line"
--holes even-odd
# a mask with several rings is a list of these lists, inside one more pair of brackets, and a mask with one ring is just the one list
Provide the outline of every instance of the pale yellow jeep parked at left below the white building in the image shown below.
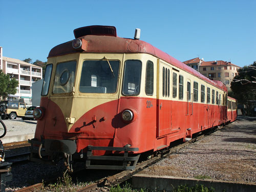
[[2,119],[16,119],[16,117],[24,117],[27,111],[26,104],[19,101],[1,101],[0,113]]

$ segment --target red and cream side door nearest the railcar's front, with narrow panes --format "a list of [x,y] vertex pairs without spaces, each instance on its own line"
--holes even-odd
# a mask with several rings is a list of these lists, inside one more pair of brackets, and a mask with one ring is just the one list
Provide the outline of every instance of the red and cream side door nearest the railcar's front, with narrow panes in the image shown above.
[[172,68],[162,61],[158,63],[157,91],[157,137],[167,135],[172,131],[172,86],[170,79]]

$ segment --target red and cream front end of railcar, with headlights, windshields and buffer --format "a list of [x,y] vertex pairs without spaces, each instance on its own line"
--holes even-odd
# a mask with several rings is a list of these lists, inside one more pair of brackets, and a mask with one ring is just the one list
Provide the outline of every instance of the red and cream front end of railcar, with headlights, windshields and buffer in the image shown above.
[[133,169],[139,154],[154,148],[156,90],[141,80],[146,70],[153,73],[154,59],[84,52],[49,57],[30,160]]

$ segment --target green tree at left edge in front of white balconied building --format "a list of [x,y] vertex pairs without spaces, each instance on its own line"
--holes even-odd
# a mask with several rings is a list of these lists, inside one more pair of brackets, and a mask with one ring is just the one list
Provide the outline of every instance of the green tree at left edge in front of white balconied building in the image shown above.
[[0,70],[0,97],[6,98],[9,94],[16,94],[18,81],[14,78],[10,79],[10,75],[6,75]]

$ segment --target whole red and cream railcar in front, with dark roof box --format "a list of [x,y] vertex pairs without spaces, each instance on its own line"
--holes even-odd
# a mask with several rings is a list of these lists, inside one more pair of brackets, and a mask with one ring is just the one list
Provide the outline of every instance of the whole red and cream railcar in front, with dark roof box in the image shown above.
[[74,34],[49,53],[31,160],[133,169],[140,154],[226,122],[222,82],[115,27]]

